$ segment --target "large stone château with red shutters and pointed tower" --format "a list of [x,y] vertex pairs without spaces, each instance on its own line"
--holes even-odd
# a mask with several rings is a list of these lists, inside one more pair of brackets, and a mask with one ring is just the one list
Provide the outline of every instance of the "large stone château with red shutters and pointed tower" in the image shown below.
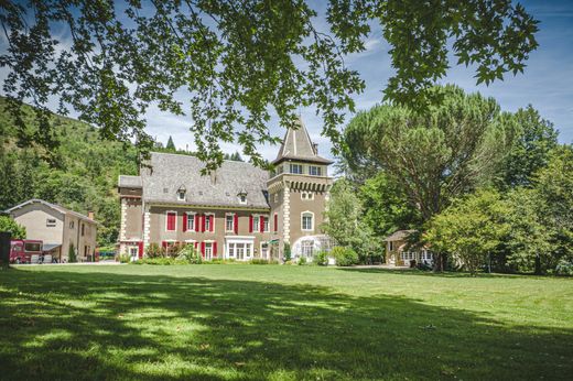
[[209,175],[204,163],[182,154],[152,152],[139,176],[119,176],[120,253],[145,255],[194,244],[206,260],[293,259],[327,249],[323,213],[333,178],[332,162],[318,155],[302,122],[289,129],[269,173],[249,163],[225,161]]

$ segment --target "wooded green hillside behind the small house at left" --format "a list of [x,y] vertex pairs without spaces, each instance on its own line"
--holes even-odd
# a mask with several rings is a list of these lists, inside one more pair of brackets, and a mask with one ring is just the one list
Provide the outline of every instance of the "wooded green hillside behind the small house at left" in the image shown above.
[[[23,106],[28,133],[39,133],[33,110]],[[57,144],[21,148],[18,129],[0,98],[0,209],[30,198],[42,198],[73,210],[93,210],[101,225],[98,244],[115,243],[119,229],[119,174],[137,174],[138,157],[129,143],[102,141],[99,131],[80,121],[50,117]]]

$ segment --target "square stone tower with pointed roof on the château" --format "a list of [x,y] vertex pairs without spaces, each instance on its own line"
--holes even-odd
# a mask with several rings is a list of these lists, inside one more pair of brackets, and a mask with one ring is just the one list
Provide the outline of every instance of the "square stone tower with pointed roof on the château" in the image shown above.
[[302,120],[289,128],[282,141],[275,166],[267,183],[271,218],[282,252],[291,246],[292,257],[312,260],[324,249],[327,237],[321,230],[333,178],[328,177],[332,161],[318,155]]

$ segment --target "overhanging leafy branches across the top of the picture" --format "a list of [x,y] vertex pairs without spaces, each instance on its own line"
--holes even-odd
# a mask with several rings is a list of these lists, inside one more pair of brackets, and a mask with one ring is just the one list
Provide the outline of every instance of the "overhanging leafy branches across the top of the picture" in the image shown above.
[[[452,55],[488,84],[522,72],[538,46],[538,21],[508,0],[329,0],[326,22],[317,15],[304,0],[3,1],[0,65],[20,143],[57,143],[46,106],[57,100],[61,113],[73,109],[104,138],[145,152],[143,116],[153,104],[193,120],[207,170],[223,161],[220,142],[238,142],[263,165],[256,144],[277,141],[267,126],[272,110],[290,127],[298,107],[312,105],[323,133],[338,142],[337,126],[365,88],[345,56],[366,48],[374,22],[396,68],[385,96],[420,109],[439,100],[430,87]],[[19,111],[26,99],[36,106],[36,131]]]

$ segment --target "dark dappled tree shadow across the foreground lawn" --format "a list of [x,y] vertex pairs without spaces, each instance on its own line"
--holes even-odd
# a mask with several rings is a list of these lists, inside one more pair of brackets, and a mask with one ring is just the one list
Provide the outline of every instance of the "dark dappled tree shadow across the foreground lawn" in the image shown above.
[[[8,275],[8,276],[6,276]],[[261,282],[11,271],[2,379],[565,379],[571,329]]]

